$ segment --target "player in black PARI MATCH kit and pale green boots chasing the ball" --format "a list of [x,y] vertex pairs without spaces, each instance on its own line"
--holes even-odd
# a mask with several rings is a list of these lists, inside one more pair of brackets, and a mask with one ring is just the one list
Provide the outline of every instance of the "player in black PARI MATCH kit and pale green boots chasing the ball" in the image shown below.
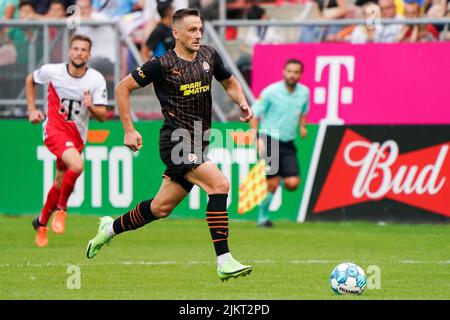
[[100,218],[97,235],[89,241],[87,257],[93,258],[115,235],[166,218],[188,195],[193,185],[209,197],[206,220],[217,255],[219,278],[227,280],[252,271],[236,261],[228,248],[228,179],[206,157],[211,128],[211,82],[214,76],[239,105],[241,121],[253,112],[239,82],[224,66],[219,54],[201,45],[202,21],[197,10],[180,9],[172,17],[175,48],[152,58],[125,77],[116,88],[124,143],[132,151],[142,148],[142,137],[130,116],[130,93],[153,83],[161,103],[164,125],[160,131],[160,157],[167,166],[161,188],[153,199],[144,200],[117,219]]

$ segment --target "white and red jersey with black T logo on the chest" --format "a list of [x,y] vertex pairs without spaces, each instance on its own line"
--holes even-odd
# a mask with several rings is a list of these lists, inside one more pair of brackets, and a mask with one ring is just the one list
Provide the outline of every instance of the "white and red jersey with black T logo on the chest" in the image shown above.
[[33,79],[38,84],[49,84],[44,140],[58,134],[80,138],[86,143],[89,109],[83,104],[84,92],[90,93],[94,105],[108,103],[106,81],[101,73],[88,68],[83,76],[74,77],[69,74],[67,64],[45,64],[34,71]]

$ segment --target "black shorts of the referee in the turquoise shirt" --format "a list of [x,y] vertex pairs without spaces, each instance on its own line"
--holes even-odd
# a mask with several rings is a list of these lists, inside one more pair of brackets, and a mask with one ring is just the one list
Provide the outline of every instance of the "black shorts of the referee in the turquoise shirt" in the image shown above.
[[[300,166],[297,160],[297,148],[294,141],[283,142],[270,136],[263,136],[266,152],[263,158],[266,160],[266,176],[273,178],[280,176],[282,178],[298,177],[300,175]],[[272,141],[273,140],[273,141]],[[273,149],[278,142],[278,150]]]

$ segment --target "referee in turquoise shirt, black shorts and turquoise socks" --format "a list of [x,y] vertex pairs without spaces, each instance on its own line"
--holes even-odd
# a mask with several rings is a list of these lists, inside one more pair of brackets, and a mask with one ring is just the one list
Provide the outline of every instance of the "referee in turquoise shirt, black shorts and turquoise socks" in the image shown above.
[[269,218],[269,206],[280,182],[290,191],[296,190],[300,184],[300,167],[294,140],[297,133],[302,138],[308,134],[306,116],[309,110],[309,89],[299,83],[303,69],[303,62],[300,60],[287,60],[283,80],[267,86],[252,106],[255,118],[250,121],[251,128],[255,132],[259,129],[260,132],[267,133],[258,135],[257,140],[258,153],[267,163],[267,197],[259,206],[260,227],[273,227]]

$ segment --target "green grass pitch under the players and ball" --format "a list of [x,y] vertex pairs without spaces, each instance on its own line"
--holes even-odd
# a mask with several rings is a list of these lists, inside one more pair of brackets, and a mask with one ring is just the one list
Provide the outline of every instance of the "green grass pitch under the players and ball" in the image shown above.
[[[35,247],[31,219],[0,216],[0,299],[450,299],[449,225],[277,222],[269,230],[231,220],[231,251],[254,270],[222,283],[204,220],[156,221],[88,260],[98,217],[69,215],[64,235],[49,230],[47,248]],[[381,288],[336,296],[329,275],[347,261],[378,266]],[[67,287],[69,265],[79,267],[80,289]]]

